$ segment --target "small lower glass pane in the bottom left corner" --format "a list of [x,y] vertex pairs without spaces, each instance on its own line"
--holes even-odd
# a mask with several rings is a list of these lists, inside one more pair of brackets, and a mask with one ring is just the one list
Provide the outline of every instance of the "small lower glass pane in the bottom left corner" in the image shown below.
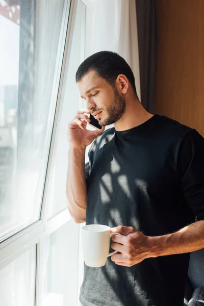
[[34,306],[36,246],[0,271],[1,306]]

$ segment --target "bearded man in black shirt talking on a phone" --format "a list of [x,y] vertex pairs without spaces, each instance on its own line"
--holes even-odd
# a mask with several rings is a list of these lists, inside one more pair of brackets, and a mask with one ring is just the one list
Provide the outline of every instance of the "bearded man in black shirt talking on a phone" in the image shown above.
[[[182,306],[189,252],[204,247],[204,140],[190,127],[149,114],[131,68],[115,53],[87,58],[76,80],[87,109],[68,125],[68,209],[77,223],[125,234],[113,237],[118,253],[104,267],[85,265],[80,301]],[[101,132],[86,130],[89,113]]]

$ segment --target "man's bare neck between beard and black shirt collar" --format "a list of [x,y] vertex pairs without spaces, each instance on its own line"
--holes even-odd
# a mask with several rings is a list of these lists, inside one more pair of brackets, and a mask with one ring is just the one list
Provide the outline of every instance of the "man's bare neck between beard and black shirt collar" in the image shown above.
[[126,100],[126,109],[122,118],[114,123],[116,131],[126,131],[133,127],[136,127],[148,119],[152,114],[148,113],[138,100],[138,98],[132,97]]

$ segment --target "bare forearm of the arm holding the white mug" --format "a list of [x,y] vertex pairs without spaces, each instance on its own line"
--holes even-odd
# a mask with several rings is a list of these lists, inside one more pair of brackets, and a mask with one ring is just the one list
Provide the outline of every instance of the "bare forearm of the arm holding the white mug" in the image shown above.
[[150,257],[188,253],[204,248],[204,221],[185,226],[180,231],[149,237]]

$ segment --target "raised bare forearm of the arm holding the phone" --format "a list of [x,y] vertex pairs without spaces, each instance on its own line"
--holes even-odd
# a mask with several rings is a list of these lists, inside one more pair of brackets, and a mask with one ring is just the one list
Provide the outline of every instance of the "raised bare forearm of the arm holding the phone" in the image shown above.
[[66,195],[70,215],[77,223],[85,222],[87,190],[85,175],[85,148],[69,148]]

